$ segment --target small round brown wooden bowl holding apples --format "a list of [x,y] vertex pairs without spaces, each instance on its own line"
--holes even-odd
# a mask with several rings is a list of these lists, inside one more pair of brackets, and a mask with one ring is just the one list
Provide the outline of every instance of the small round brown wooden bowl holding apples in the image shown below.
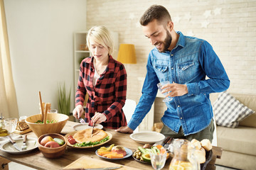
[[[60,147],[55,147],[55,148],[50,148],[50,147],[44,147],[43,145],[40,144],[41,140],[43,137],[50,136],[50,137],[57,137],[61,140],[65,141],[65,144],[60,146]],[[67,147],[67,140],[65,140],[65,137],[63,135],[57,134],[57,133],[48,133],[41,135],[38,137],[38,149],[42,152],[43,156],[47,158],[58,158],[61,157],[65,153],[65,148]]]

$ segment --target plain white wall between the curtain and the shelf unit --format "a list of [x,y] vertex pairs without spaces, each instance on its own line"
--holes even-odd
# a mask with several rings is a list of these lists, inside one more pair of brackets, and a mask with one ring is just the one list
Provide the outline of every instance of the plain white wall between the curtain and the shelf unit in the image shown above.
[[86,0],[5,0],[4,5],[19,115],[39,113],[38,91],[58,108],[58,83],[65,82],[74,96],[73,32],[86,30]]

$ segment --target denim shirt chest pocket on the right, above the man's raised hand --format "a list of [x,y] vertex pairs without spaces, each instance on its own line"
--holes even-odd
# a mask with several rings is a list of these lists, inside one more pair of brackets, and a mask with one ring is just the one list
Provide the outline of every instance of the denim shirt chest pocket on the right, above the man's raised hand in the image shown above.
[[180,79],[181,84],[191,81],[195,72],[195,62],[178,64],[178,79]]

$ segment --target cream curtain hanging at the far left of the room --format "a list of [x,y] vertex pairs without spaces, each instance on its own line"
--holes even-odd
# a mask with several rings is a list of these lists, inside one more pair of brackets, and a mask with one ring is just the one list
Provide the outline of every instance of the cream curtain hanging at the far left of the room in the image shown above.
[[0,115],[18,118],[18,104],[11,72],[4,0],[0,0]]

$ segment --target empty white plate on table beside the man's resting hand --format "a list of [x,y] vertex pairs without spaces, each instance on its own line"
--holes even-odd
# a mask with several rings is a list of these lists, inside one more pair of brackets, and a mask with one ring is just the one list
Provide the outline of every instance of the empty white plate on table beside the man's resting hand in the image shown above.
[[135,132],[130,137],[140,144],[152,144],[165,139],[165,136],[159,132]]

